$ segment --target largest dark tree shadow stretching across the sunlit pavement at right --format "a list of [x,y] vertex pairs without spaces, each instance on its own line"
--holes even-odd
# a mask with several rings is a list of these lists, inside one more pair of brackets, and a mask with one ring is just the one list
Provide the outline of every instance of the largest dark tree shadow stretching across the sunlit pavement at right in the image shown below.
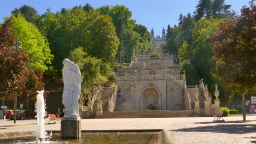
[[209,126],[203,126],[203,127],[174,129],[169,131],[246,134],[246,133],[256,133],[256,125],[255,124],[218,124],[218,125],[209,125]]

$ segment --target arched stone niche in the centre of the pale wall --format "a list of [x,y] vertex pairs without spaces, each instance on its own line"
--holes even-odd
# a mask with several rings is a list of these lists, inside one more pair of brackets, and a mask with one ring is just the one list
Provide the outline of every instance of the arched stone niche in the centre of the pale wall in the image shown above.
[[159,90],[155,87],[146,87],[141,95],[141,110],[161,110]]

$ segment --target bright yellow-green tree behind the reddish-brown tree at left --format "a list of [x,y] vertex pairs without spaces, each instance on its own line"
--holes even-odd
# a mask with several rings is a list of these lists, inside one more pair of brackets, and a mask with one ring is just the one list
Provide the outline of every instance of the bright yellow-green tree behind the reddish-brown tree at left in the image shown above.
[[43,71],[48,70],[53,55],[50,53],[45,37],[38,31],[37,27],[18,15],[18,17],[13,17],[11,28],[15,30],[14,36],[22,41],[22,49],[30,57],[29,65]]

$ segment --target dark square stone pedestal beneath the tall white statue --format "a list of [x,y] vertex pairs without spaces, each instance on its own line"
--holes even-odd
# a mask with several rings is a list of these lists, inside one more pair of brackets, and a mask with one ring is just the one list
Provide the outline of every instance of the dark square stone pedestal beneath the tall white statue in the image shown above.
[[[74,119],[74,120],[72,120]],[[81,138],[81,118],[61,118],[61,139]]]

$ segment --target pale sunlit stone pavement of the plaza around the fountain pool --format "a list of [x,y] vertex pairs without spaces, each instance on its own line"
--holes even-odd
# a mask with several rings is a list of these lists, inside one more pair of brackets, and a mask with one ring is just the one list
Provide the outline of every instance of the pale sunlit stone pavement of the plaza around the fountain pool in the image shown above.
[[[213,122],[213,117],[82,119],[82,130],[165,129],[172,143],[256,143],[256,116],[246,118],[246,122],[242,117],[224,117],[225,122]],[[58,122],[45,125],[48,131],[60,130]],[[36,120],[16,124],[0,120],[0,130],[2,134],[36,131]]]

